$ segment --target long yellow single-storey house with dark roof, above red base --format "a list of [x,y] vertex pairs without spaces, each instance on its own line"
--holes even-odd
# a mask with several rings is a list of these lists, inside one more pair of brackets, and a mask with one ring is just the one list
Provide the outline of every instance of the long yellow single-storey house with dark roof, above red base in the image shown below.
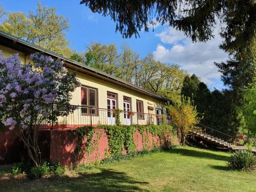
[[[29,56],[42,52],[53,58],[60,58],[69,71],[75,71],[82,86],[73,92],[71,104],[76,110],[67,117],[59,117],[58,124],[44,123],[42,128],[74,128],[84,125],[115,124],[115,109],[121,109],[121,124],[161,124],[168,120],[164,105],[167,101],[134,84],[108,75],[82,63],[43,49],[27,41],[0,31],[0,50],[3,56],[18,53],[22,63],[31,62]],[[61,106],[52,106],[54,110],[63,110]]]

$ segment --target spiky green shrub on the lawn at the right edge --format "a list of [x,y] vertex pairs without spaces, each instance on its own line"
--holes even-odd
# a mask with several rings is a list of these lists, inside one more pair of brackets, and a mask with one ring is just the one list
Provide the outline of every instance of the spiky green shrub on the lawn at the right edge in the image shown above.
[[249,170],[256,168],[256,156],[249,150],[240,150],[231,154],[228,166],[235,170]]

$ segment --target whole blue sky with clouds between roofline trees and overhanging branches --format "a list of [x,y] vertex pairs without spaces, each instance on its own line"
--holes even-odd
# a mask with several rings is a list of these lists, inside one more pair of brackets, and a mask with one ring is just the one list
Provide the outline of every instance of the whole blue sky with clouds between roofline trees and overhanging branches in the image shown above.
[[[92,13],[85,5],[76,1],[40,1],[42,6],[55,7],[57,13],[69,19],[71,28],[67,31],[67,38],[71,41],[71,49],[82,51],[90,41],[102,44],[114,43],[120,47],[126,42],[141,57],[153,53],[157,60],[168,65],[177,63],[190,74],[195,73],[204,81],[210,90],[222,89],[220,73],[214,66],[214,61],[220,62],[227,59],[227,54],[218,48],[221,39],[216,29],[216,38],[206,43],[194,44],[184,36],[167,25],[158,25],[153,32],[140,32],[140,38],[123,39],[119,32],[115,32],[116,25],[110,17]],[[6,11],[21,11],[28,13],[35,11],[37,1],[1,1]]]

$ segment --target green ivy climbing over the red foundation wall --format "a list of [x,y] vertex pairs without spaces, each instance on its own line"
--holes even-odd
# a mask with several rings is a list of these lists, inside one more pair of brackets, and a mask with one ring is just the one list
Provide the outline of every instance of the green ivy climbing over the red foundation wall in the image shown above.
[[[135,153],[135,141],[134,133],[136,130],[142,135],[143,141],[143,150],[149,150],[150,143],[148,134],[151,133],[153,136],[159,136],[162,147],[170,147],[177,145],[178,138],[177,132],[173,129],[171,125],[99,125],[97,127],[79,127],[76,132],[76,138],[78,139],[78,145],[76,152],[78,156],[82,155],[81,153],[87,152],[92,153],[94,148],[88,150],[88,146],[92,145],[92,137],[94,134],[94,129],[104,129],[109,137],[109,147],[110,147],[110,156],[119,156],[123,153],[123,148],[127,151],[128,154]],[[88,138],[87,150],[81,150],[81,143],[84,137]],[[99,139],[99,137],[98,137]],[[137,138],[138,139],[138,138]],[[94,144],[95,145],[95,144]],[[153,148],[157,147],[156,143],[153,143]],[[90,154],[89,154],[90,155]],[[79,159],[79,157],[78,157]]]

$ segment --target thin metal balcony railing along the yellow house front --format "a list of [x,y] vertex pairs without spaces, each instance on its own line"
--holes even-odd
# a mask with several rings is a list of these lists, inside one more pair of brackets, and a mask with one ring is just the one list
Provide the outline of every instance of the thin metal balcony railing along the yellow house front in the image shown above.
[[[102,108],[88,108],[73,105],[75,110],[66,116],[57,117],[56,123],[41,123],[40,129],[70,129],[81,126],[115,125],[118,112]],[[52,110],[65,112],[65,108],[54,105]],[[131,111],[119,112],[121,125],[161,125],[171,124],[169,116],[148,113],[137,113]]]

